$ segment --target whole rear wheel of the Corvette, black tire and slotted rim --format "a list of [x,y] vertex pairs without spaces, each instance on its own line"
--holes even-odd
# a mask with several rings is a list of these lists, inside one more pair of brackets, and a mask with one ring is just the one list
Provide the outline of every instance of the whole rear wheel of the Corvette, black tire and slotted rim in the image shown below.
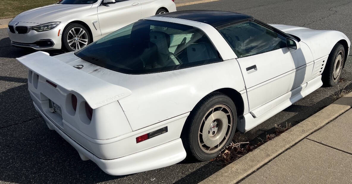
[[232,141],[236,126],[233,101],[223,93],[210,93],[191,111],[183,127],[187,155],[201,161],[215,158]]

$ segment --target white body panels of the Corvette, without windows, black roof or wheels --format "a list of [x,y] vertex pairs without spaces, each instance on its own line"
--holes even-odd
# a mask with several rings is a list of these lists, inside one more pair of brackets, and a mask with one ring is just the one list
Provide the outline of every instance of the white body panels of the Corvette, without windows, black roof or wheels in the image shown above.
[[[345,40],[350,47],[350,40],[338,31],[272,25],[300,37],[300,48],[285,47],[239,58],[209,24],[166,16],[145,20],[202,30],[223,61],[131,75],[91,64],[74,53],[50,57],[36,52],[17,58],[30,70],[29,92],[48,127],[74,146],[83,160],[93,160],[110,175],[157,169],[183,160],[186,152],[180,134],[184,123],[195,105],[213,91],[236,95],[237,129],[251,130],[322,85],[323,61],[337,42]],[[257,71],[246,71],[253,64]],[[85,67],[72,67],[77,65]],[[69,109],[68,94],[77,96],[78,114]],[[49,111],[48,99],[61,106],[63,118]],[[81,114],[84,101],[94,109],[91,122]],[[165,126],[168,132],[136,144],[136,137]]]

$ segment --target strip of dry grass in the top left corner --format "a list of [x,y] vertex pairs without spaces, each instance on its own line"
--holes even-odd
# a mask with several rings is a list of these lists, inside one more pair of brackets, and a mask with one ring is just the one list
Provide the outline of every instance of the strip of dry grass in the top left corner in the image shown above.
[[0,19],[13,18],[29,9],[50,5],[58,0],[0,0]]

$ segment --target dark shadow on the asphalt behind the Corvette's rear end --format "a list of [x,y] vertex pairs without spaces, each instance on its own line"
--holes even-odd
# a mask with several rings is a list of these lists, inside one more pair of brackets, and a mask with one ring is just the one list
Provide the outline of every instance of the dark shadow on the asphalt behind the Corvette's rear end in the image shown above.
[[[26,79],[0,77],[26,83]],[[110,176],[51,131],[34,110],[27,85],[0,93],[0,181],[14,183],[97,183]]]

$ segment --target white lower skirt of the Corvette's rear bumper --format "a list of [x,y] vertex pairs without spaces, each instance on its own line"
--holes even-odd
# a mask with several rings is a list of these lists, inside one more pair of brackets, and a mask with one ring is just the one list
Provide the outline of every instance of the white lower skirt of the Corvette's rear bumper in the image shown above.
[[70,143],[77,150],[82,160],[92,160],[101,170],[109,175],[120,176],[149,171],[176,164],[186,158],[186,151],[183,148],[182,140],[181,138],[178,138],[125,157],[111,160],[100,159],[61,131],[35,103],[33,104],[36,110],[44,118],[48,127],[55,130],[61,137]]

